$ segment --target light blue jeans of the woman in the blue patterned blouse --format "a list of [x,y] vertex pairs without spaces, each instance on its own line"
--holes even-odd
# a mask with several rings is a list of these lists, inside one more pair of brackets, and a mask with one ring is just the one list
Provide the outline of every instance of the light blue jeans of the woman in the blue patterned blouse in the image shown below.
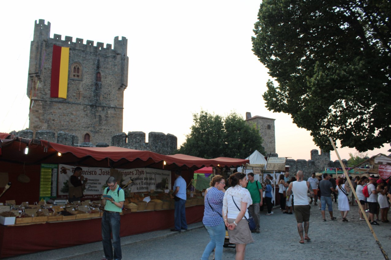
[[206,245],[204,253],[202,254],[201,260],[208,260],[210,254],[213,249],[216,248],[215,251],[215,260],[221,260],[222,258],[222,246],[224,244],[225,239],[225,225],[222,222],[217,226],[205,226],[206,230],[208,230],[210,242]]

